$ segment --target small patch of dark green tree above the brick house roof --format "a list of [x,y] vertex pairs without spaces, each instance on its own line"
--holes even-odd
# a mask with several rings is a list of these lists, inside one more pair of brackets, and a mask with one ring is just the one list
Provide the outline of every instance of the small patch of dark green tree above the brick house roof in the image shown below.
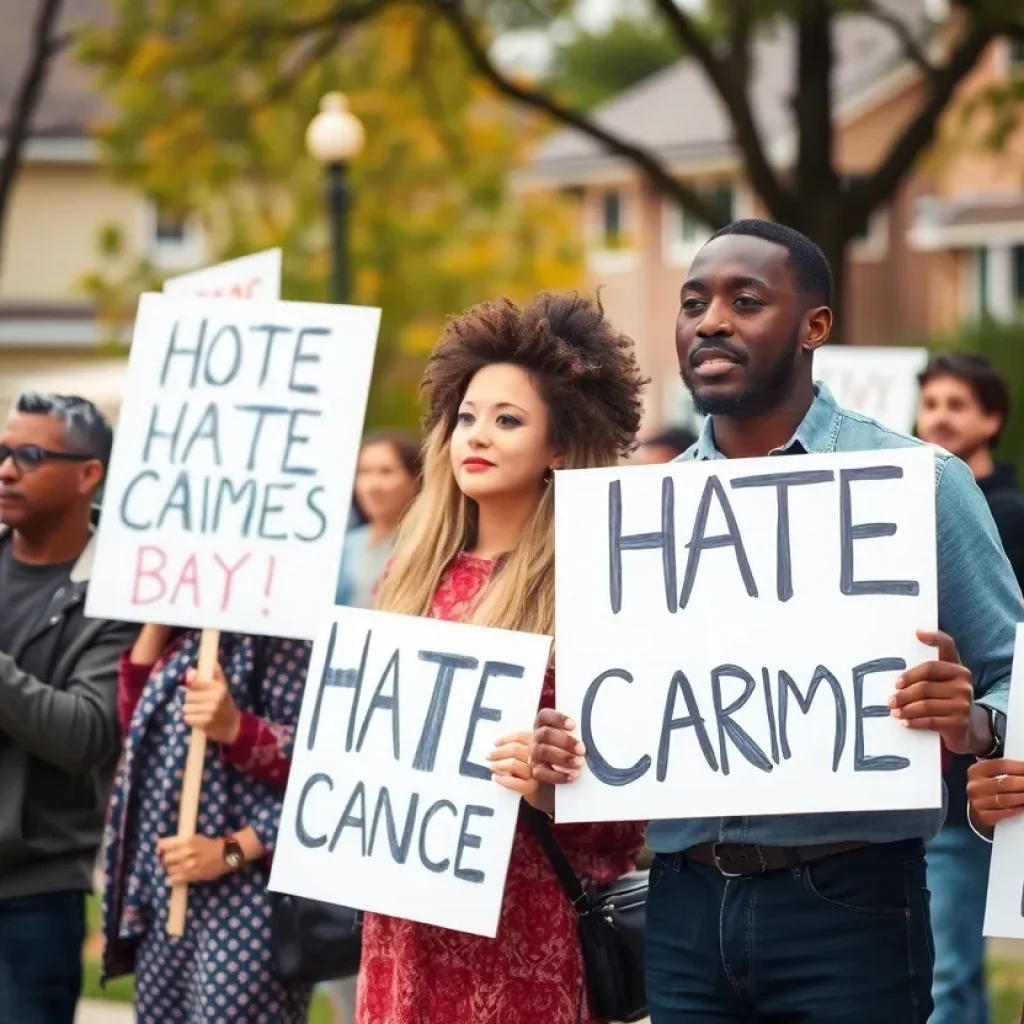
[[678,59],[678,46],[653,19],[617,17],[556,45],[545,84],[589,111]]

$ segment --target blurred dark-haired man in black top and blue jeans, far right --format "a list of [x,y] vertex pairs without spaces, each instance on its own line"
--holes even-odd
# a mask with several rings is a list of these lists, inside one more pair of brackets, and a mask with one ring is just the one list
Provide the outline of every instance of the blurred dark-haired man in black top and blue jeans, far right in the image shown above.
[[[932,356],[918,378],[918,434],[958,456],[974,473],[991,509],[999,540],[1017,577],[1024,573],[1024,495],[1013,466],[992,452],[1010,414],[1010,391],[983,355]],[[935,936],[935,1012],[932,1024],[988,1024],[982,927],[990,849],[968,824],[967,772],[973,757],[943,751],[949,805],[939,835],[928,844]]]

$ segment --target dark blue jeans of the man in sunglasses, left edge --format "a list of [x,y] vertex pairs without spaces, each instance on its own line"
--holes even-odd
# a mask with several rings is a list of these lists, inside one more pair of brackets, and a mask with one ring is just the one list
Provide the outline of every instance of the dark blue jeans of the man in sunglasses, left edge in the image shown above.
[[74,1024],[84,941],[85,893],[0,900],[0,1021]]

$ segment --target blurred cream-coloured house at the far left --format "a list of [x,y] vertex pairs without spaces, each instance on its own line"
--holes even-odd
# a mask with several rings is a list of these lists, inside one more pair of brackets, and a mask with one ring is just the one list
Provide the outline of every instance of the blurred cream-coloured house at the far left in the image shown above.
[[[38,9],[0,0],[0,153]],[[65,0],[60,33],[105,16],[103,0]],[[90,128],[103,116],[98,89],[71,48],[54,59],[8,202],[0,261],[0,407],[26,388],[74,391],[109,415],[120,406],[123,355],[112,355],[80,287],[99,261],[109,226],[126,249],[168,271],[206,259],[198,227],[168,216],[104,169]]]

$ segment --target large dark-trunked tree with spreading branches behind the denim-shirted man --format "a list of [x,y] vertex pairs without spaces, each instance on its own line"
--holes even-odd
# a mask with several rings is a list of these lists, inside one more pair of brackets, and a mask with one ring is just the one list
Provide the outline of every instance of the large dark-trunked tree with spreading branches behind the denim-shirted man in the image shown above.
[[[871,214],[892,199],[901,181],[935,138],[957,87],[987,46],[998,36],[1024,36],[1024,10],[1009,0],[950,0],[950,32],[922,39],[894,14],[890,0],[708,0],[709,16],[700,19],[678,0],[649,0],[664,32],[702,69],[732,122],[735,144],[745,176],[776,220],[811,236],[836,271],[839,313],[844,296],[843,254],[861,233]],[[137,20],[150,7],[135,3]],[[231,61],[255,48],[278,52],[301,49],[300,62],[328,60],[353,26],[387,11],[413,10],[445,26],[458,40],[477,76],[500,95],[575,128],[608,153],[628,161],[656,190],[712,226],[721,216],[696,189],[677,180],[656,154],[604,128],[593,116],[543,84],[522,80],[500,67],[490,42],[507,27],[552,23],[564,17],[569,0],[301,0],[289,5],[269,0],[227,4],[214,34],[202,25],[196,0],[175,5],[171,18],[175,46],[191,56]],[[923,5],[922,5],[923,6]],[[898,38],[907,57],[921,70],[925,89],[921,105],[871,171],[855,182],[844,180],[834,157],[835,105],[831,89],[833,37],[838,20],[850,13],[870,16]],[[168,15],[170,17],[170,15]],[[752,41],[771,23],[786,20],[797,38],[794,78],[796,159],[780,171],[769,158],[754,115]],[[207,18],[209,20],[209,17]],[[216,40],[211,37],[216,35]],[[935,44],[934,46],[932,44]],[[118,46],[127,45],[122,38]],[[427,76],[429,78],[429,76]],[[680,97],[680,103],[686,101]]]

